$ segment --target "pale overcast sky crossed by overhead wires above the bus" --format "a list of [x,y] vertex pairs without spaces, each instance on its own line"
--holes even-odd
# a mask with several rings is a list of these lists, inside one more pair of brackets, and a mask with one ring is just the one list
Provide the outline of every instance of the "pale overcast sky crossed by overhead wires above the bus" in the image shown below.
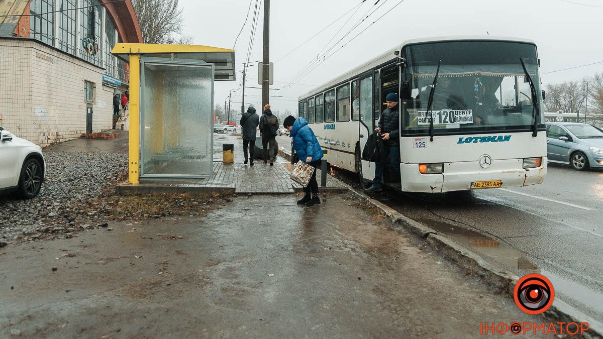
[[[251,1],[247,24],[235,46],[237,71],[241,71],[242,63],[247,61],[256,3],[256,0]],[[271,90],[271,95],[282,95],[270,99],[273,110],[290,109],[291,112],[297,112],[298,95],[367,62],[406,39],[419,37],[486,35],[488,32],[496,36],[532,39],[538,46],[541,74],[601,62],[597,65],[543,74],[543,84],[577,80],[603,71],[603,1],[600,0],[405,0],[395,8],[394,5],[400,0],[380,0],[374,5],[375,2],[376,0],[366,0],[358,6],[361,0],[271,1],[270,61],[274,62],[273,88],[280,88]],[[250,1],[180,0],[180,4],[184,9],[185,34],[193,37],[195,45],[232,48],[245,21]],[[349,22],[326,49],[349,31],[364,14],[371,13],[379,6],[377,11],[327,55],[356,36],[375,19],[387,11],[389,13],[313,71],[295,81],[296,84],[291,88],[283,88],[303,66],[316,58],[348,19]],[[262,59],[263,12],[262,2],[250,61]],[[277,62],[283,55],[346,12],[349,13],[327,30]],[[240,89],[242,75],[238,73],[236,77],[236,81],[216,82],[215,103],[223,105],[230,89]],[[258,87],[257,66],[248,68],[246,79],[246,86]],[[241,101],[241,90],[236,92],[236,95],[233,93],[233,101]],[[259,107],[260,101],[260,89],[245,90],[245,103],[253,103]],[[232,107],[241,107],[241,103],[233,103]]]

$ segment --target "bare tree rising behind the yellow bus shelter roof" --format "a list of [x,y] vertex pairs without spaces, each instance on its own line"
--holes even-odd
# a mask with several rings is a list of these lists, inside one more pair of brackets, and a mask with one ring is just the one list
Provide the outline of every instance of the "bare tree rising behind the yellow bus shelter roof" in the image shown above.
[[178,0],[131,0],[145,43],[188,45],[192,38],[182,34],[182,8]]

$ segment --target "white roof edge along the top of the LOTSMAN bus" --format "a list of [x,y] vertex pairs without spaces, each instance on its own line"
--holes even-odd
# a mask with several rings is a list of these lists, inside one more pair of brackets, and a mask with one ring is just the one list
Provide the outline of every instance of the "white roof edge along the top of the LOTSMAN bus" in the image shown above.
[[508,37],[508,36],[478,36],[478,35],[475,35],[475,36],[434,36],[434,37],[421,37],[418,39],[404,40],[401,44],[394,46],[394,48],[388,49],[387,52],[384,52],[383,54],[379,55],[378,57],[376,57],[360,66],[357,66],[356,68],[351,69],[350,71],[342,74],[341,76],[339,76],[333,80],[330,80],[327,83],[322,84],[321,86],[314,87],[314,89],[310,90],[309,92],[304,93],[299,98],[300,99],[306,98],[306,97],[310,97],[310,96],[314,95],[315,93],[320,93],[324,89],[335,86],[336,84],[340,83],[341,81],[349,79],[356,74],[360,74],[364,71],[368,71],[368,69],[371,69],[373,67],[386,63],[389,60],[394,59],[394,57],[395,57],[394,52],[402,50],[403,46],[413,45],[415,43],[444,42],[444,41],[456,41],[456,40],[493,40],[493,41],[507,41],[507,42],[525,42],[525,43],[531,43],[531,44],[535,45],[535,42],[532,40],[523,39],[520,37]]

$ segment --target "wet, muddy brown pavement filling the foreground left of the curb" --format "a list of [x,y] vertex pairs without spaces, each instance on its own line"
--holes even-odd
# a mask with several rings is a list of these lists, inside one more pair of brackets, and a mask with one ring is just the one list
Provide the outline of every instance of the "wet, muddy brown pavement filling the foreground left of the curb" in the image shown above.
[[350,195],[295,200],[0,251],[0,337],[467,338],[544,321]]

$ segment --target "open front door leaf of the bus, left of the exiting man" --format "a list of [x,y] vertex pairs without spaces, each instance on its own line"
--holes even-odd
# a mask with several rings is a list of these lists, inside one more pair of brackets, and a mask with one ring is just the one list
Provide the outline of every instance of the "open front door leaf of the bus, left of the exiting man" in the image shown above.
[[[377,73],[378,74],[378,73]],[[375,164],[362,160],[361,154],[364,150],[364,146],[367,144],[368,136],[370,136],[375,129],[375,116],[373,103],[374,99],[374,81],[375,77],[373,73],[365,75],[360,78],[360,120],[359,120],[359,137],[360,137],[360,154],[357,154],[359,163],[356,164],[358,168],[356,171],[361,176],[361,179],[373,180],[375,175]],[[377,81],[379,78],[377,77]],[[379,89],[377,85],[377,89]]]

